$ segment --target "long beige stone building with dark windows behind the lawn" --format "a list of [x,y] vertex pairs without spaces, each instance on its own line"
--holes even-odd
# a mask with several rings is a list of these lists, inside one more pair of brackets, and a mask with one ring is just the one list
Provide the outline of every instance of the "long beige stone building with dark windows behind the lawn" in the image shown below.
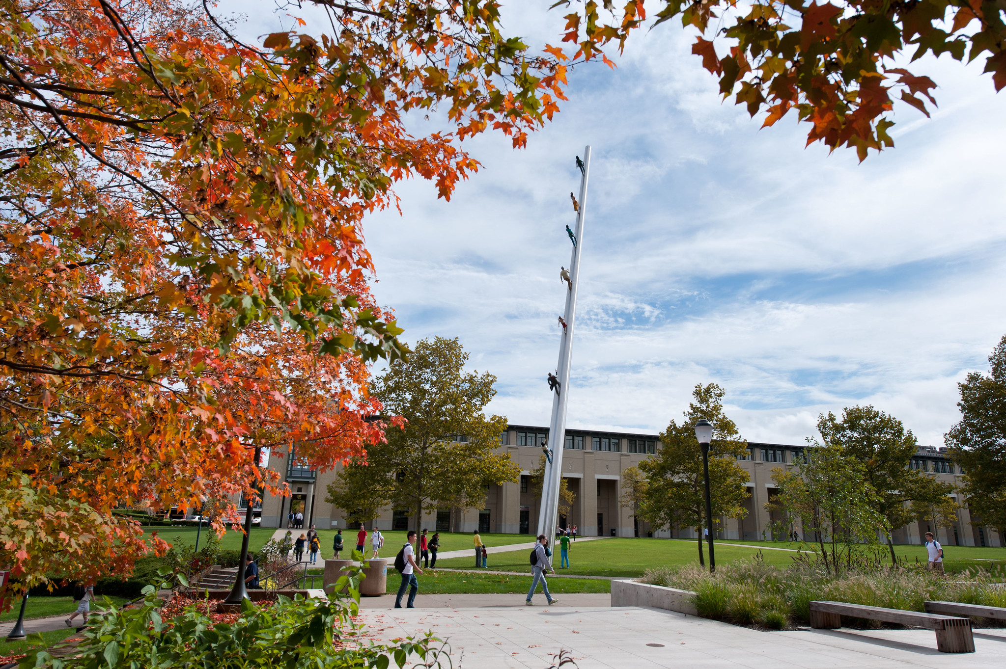
[[[520,467],[519,481],[489,486],[481,509],[431,509],[420,526],[431,531],[479,529],[504,533],[535,532],[538,499],[530,492],[529,474],[538,466],[540,444],[547,438],[548,428],[510,425],[501,435],[499,449],[509,452]],[[619,504],[622,472],[656,453],[659,448],[659,437],[653,434],[566,430],[562,476],[566,478],[569,490],[575,494],[575,500],[569,516],[560,518],[559,526],[575,524],[581,535],[694,536],[694,530],[687,528],[653,530],[647,523],[637,522],[631,508]],[[772,470],[776,467],[789,468],[794,455],[803,449],[803,446],[748,443],[748,454],[740,461],[749,476],[747,487],[751,494],[744,502],[747,513],[739,519],[722,519],[723,529],[717,532],[719,538],[771,538],[768,527],[775,518],[766,510],[765,504],[776,494]],[[920,447],[911,466],[933,472],[942,480],[956,482],[960,470],[955,469],[945,457],[945,450]],[[346,528],[345,511],[325,501],[327,485],[335,479],[334,471],[315,472],[292,464],[289,457],[272,458],[270,466],[277,468],[281,478],[289,482],[293,494],[290,498],[267,496],[261,511],[262,526],[278,527],[281,522],[285,525],[293,509],[304,514],[305,527],[314,523],[319,528]],[[388,507],[367,524],[381,530],[414,527],[415,523],[408,513],[404,509]],[[800,533],[801,527],[793,526],[792,530]],[[920,518],[897,530],[894,541],[920,543],[921,534],[926,531],[937,532],[939,540],[948,545],[1004,544],[1001,532],[980,522],[972,523],[966,504],[953,526],[935,528],[932,521]]]

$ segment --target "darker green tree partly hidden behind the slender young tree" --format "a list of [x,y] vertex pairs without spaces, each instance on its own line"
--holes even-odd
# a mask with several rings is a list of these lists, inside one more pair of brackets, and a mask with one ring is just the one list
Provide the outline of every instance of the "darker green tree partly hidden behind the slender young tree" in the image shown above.
[[857,406],[843,409],[841,420],[831,412],[821,415],[817,427],[826,444],[841,449],[843,457],[860,463],[862,476],[875,493],[869,500],[882,519],[881,529],[892,565],[897,558],[891,532],[919,515],[941,518],[953,515],[955,504],[948,495],[954,486],[908,468],[916,442],[901,421],[871,406]]

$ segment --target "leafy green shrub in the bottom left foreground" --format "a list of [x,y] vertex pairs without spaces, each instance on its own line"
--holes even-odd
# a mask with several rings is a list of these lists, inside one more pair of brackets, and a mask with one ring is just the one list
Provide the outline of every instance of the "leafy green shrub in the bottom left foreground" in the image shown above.
[[[444,652],[428,633],[397,643],[367,639],[353,620],[358,613],[362,570],[349,568],[336,592],[349,596],[330,600],[278,597],[269,606],[247,600],[239,614],[208,613],[205,602],[188,603],[162,620],[157,587],[144,589],[146,599],[134,609],[113,607],[94,616],[72,657],[54,658],[36,651],[22,666],[51,669],[127,669],[128,667],[243,667],[307,669],[308,667],[402,666],[409,654],[435,666]],[[167,586],[168,584],[161,584]],[[166,615],[168,614],[165,610]]]

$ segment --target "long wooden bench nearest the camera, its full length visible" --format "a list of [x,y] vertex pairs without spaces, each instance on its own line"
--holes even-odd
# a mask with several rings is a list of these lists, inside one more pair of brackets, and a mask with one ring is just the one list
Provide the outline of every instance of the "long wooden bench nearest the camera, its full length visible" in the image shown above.
[[882,609],[844,602],[811,602],[811,627],[835,630],[842,627],[842,616],[898,623],[935,630],[937,648],[942,653],[974,653],[975,639],[971,635],[971,619],[942,616],[900,609]]

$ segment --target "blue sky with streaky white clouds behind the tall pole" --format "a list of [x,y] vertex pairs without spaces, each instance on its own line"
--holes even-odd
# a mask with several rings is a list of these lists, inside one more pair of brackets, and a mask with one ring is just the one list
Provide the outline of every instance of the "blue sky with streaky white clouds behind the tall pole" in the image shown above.
[[[507,25],[554,43],[547,4],[507,5]],[[240,7],[248,34],[289,23],[261,8]],[[499,379],[492,412],[547,425],[573,157],[590,144],[570,427],[657,432],[715,382],[753,441],[803,443],[819,413],[873,404],[943,445],[957,383],[1006,332],[1006,95],[980,64],[924,59],[940,108],[896,108],[896,148],[860,165],[805,149],[795,120],[759,130],[721,103],[690,43],[668,22],[616,70],[575,69],[526,150],[466,142],[483,169],[450,203],[402,184],[401,215],[366,223],[378,298],[406,341],[459,337]]]

